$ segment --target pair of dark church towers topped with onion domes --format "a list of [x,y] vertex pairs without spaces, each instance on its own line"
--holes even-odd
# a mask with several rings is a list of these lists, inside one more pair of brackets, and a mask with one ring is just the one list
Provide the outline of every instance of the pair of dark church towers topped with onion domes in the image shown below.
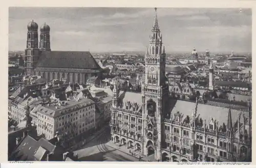
[[25,49],[25,75],[31,75],[35,68],[40,51],[50,51],[50,26],[46,23],[40,27],[39,48],[38,48],[38,24],[33,20],[28,24],[27,47]]

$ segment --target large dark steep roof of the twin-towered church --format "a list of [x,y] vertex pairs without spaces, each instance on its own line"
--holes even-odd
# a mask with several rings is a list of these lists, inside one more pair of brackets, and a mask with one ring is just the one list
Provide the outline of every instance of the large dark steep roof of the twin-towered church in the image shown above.
[[101,69],[89,51],[42,51],[39,68]]

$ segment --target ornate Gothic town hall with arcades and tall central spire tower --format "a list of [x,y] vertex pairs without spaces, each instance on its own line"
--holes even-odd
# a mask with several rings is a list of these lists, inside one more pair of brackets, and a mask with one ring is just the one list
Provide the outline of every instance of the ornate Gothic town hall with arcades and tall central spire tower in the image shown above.
[[[156,10],[156,8],[155,8]],[[251,161],[251,101],[247,106],[169,97],[165,49],[155,16],[145,53],[141,93],[112,92],[113,143],[159,161]]]

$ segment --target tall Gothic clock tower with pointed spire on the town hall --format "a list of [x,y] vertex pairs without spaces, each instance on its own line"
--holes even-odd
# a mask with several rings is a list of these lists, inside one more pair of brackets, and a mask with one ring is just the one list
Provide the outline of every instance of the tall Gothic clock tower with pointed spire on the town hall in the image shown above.
[[[157,8],[155,8],[157,12]],[[142,154],[155,155],[161,160],[164,117],[168,115],[168,82],[165,76],[165,50],[162,46],[157,13],[154,20],[150,46],[145,53],[145,76],[142,84]]]

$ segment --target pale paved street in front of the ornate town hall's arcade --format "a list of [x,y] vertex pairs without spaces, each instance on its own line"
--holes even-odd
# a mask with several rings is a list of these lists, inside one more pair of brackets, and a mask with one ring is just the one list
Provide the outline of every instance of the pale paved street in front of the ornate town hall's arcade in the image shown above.
[[118,144],[111,142],[110,127],[105,126],[103,129],[81,149],[74,151],[79,161],[139,161],[139,151],[134,152],[134,156],[127,154],[126,147],[118,147]]

